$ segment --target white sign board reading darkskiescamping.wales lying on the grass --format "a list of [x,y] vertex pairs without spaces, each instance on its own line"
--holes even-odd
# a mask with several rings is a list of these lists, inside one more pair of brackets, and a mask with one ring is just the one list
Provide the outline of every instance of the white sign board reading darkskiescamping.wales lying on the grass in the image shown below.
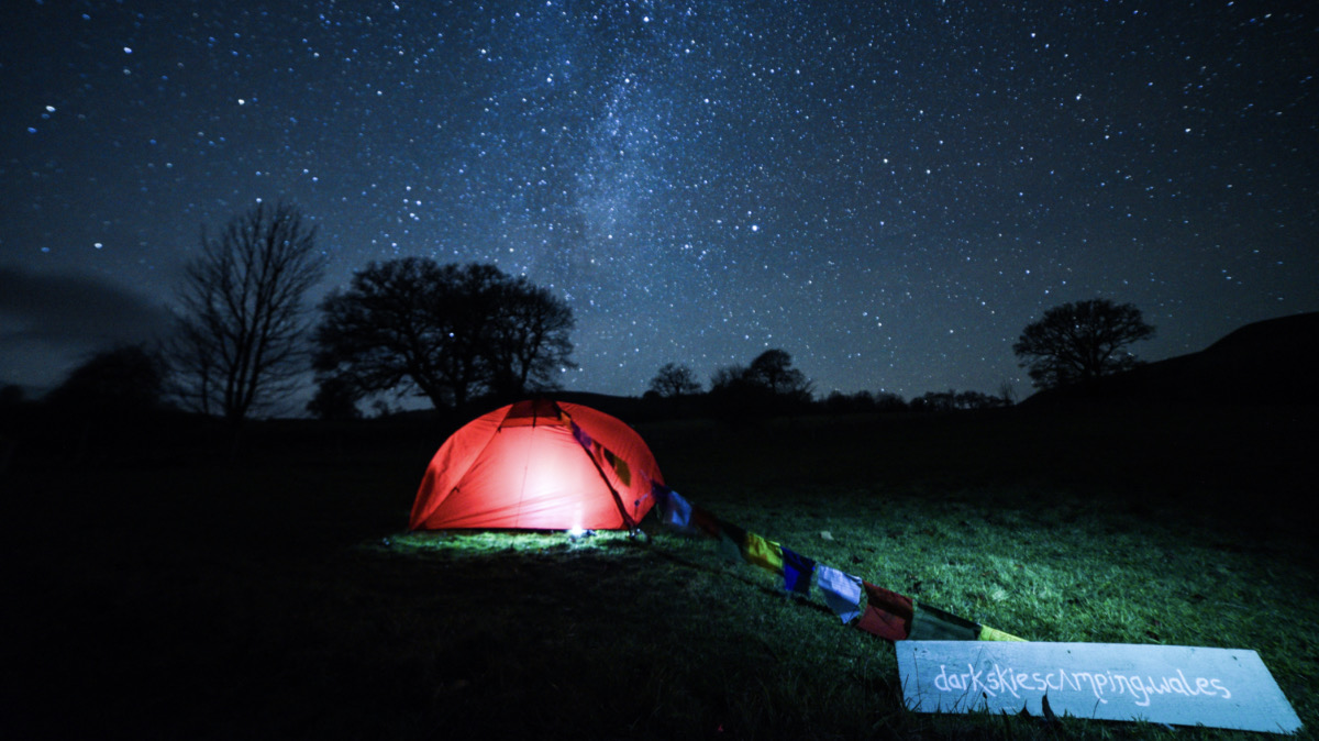
[[1070,715],[1291,733],[1301,719],[1260,655],[1133,643],[898,641],[907,708]]

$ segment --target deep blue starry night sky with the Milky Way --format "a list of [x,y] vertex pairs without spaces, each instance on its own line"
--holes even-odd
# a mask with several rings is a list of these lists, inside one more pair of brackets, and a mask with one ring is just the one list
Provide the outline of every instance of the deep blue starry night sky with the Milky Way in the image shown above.
[[1148,360],[1319,310],[1319,11],[1252,1],[11,0],[0,381],[168,326],[259,199],[372,260],[571,306],[566,388],[1020,396],[1012,343],[1104,297]]

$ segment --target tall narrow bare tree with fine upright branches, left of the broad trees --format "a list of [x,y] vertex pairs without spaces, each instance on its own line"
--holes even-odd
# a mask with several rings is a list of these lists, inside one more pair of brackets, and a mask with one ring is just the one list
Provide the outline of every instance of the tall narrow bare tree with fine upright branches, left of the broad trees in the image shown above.
[[293,206],[259,203],[202,254],[178,291],[169,347],[177,396],[189,409],[239,423],[291,390],[303,372],[303,297],[324,273],[315,228]]

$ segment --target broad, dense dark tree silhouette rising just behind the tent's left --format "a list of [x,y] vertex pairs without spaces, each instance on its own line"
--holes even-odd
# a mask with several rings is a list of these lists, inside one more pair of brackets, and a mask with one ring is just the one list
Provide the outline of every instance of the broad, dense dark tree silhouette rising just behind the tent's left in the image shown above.
[[321,310],[317,373],[361,394],[413,392],[443,409],[550,388],[571,365],[567,305],[493,265],[372,262]]

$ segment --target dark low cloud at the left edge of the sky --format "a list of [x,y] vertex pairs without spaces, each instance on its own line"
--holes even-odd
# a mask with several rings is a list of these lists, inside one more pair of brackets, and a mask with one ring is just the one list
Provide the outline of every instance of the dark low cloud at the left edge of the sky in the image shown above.
[[164,302],[95,277],[0,265],[0,382],[53,386],[87,355],[169,323]]

